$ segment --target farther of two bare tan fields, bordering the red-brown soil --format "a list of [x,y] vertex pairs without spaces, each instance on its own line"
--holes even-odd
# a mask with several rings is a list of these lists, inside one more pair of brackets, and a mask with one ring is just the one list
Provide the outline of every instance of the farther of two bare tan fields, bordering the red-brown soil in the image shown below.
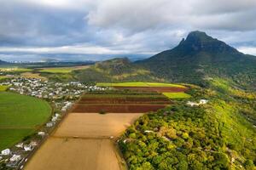
[[79,138],[116,137],[142,115],[141,113],[108,113],[105,115],[98,113],[69,113],[53,136],[76,136]]

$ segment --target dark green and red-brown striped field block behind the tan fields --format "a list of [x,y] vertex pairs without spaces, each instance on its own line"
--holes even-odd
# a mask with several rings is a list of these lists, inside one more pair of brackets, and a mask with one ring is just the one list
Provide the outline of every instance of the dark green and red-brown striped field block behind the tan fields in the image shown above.
[[73,112],[145,113],[167,105],[171,105],[171,102],[162,94],[114,90],[105,94],[84,94],[74,106]]

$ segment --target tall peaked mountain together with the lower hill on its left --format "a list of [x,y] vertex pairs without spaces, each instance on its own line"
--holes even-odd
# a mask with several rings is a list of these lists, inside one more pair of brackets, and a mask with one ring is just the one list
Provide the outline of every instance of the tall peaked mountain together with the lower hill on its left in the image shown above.
[[81,82],[157,81],[207,86],[214,78],[256,89],[256,57],[242,54],[202,31],[192,31],[177,47],[136,62],[127,58],[97,62],[73,77]]

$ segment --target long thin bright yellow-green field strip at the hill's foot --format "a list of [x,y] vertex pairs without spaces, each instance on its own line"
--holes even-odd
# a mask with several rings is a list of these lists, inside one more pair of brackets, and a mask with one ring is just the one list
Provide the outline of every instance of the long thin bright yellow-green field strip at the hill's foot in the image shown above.
[[172,84],[172,83],[160,83],[160,82],[118,82],[118,83],[108,83],[108,82],[98,82],[96,86],[100,87],[174,87],[174,88],[186,88],[183,85]]

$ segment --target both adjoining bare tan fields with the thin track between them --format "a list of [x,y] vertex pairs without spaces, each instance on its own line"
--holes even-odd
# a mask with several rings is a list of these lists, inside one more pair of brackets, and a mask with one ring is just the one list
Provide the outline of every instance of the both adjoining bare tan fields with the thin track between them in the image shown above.
[[26,170],[124,168],[111,136],[118,137],[140,113],[69,113],[32,156]]

